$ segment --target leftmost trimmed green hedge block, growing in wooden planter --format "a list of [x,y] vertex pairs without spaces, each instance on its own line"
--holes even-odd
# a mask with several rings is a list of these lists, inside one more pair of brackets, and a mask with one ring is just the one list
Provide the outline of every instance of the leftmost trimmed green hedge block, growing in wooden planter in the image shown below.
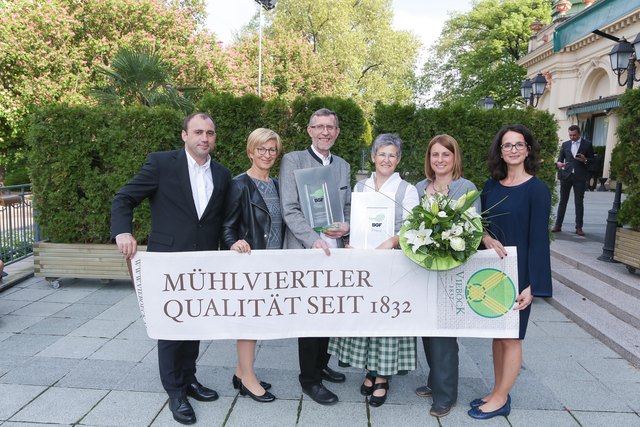
[[[147,153],[182,146],[182,114],[163,108],[52,105],[30,118],[27,134],[34,208],[56,243],[106,243],[115,192]],[[149,209],[134,214],[145,240]]]

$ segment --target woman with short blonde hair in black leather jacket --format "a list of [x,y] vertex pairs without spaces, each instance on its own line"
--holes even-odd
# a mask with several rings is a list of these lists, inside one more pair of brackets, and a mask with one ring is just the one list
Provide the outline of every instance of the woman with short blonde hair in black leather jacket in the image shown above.
[[[270,129],[258,128],[247,140],[251,168],[231,181],[227,191],[224,243],[231,250],[249,253],[251,249],[281,249],[284,223],[280,212],[278,183],[269,176],[282,151],[280,136]],[[238,340],[238,366],[233,386],[240,394],[258,402],[272,402],[267,390],[271,384],[259,381],[253,370],[255,340]]]

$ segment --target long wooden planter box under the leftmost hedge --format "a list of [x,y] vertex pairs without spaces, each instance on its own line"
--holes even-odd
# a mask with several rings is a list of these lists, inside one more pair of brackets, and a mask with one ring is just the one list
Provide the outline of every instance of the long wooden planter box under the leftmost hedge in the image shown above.
[[[146,250],[138,246],[138,250]],[[113,244],[49,243],[33,245],[33,266],[36,277],[44,277],[54,288],[59,279],[129,280],[124,257]]]

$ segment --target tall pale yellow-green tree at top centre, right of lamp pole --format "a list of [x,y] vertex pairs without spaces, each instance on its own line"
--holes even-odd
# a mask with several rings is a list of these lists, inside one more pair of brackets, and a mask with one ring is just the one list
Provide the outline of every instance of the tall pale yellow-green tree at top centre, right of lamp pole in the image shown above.
[[302,35],[313,52],[335,63],[336,94],[368,113],[376,102],[407,103],[413,96],[420,42],[392,28],[391,0],[280,0],[271,31]]

